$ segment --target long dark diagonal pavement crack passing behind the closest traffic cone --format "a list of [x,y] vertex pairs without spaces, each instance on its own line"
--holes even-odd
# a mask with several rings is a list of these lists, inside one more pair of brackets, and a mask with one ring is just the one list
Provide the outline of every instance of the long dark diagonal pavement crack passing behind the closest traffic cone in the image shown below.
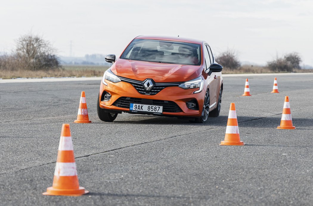
[[[207,131],[207,130],[211,130],[211,129],[213,129],[213,128],[208,128],[208,129],[205,129],[205,130],[194,131],[194,132],[190,132],[190,133],[184,133],[184,134],[180,134],[180,135],[170,136],[170,137],[157,139],[157,140],[153,140],[153,141],[148,141],[148,142],[142,142],[142,143],[138,143],[138,144],[128,145],[128,146],[125,146],[125,147],[119,147],[119,148],[115,148],[115,149],[111,149],[111,150],[106,150],[106,151],[103,151],[103,152],[96,152],[96,153],[92,153],[92,154],[88,154],[88,155],[84,155],[84,156],[80,156],[80,157],[75,157],[75,159],[89,157],[89,156],[98,155],[98,154],[104,154],[106,152],[113,152],[113,151],[124,149],[124,148],[128,148],[128,147],[134,147],[134,146],[143,145],[143,144],[147,144],[147,143],[158,142],[158,141],[162,141],[162,140],[171,139],[171,138],[174,138],[174,137],[177,137],[177,136],[190,135],[190,134],[203,132],[203,131]],[[49,165],[49,164],[54,164],[54,163],[56,163],[56,161],[54,161],[54,162],[47,162],[47,163],[40,164],[40,165],[35,165],[35,166],[32,166],[32,167],[26,167],[26,168],[19,169],[19,170],[13,171],[13,172],[0,173],[0,175],[8,174],[8,173],[18,173],[18,172],[21,172],[21,171],[24,171],[24,170],[28,170],[28,169],[32,169],[32,168],[36,168],[36,167],[42,167],[42,166]]]

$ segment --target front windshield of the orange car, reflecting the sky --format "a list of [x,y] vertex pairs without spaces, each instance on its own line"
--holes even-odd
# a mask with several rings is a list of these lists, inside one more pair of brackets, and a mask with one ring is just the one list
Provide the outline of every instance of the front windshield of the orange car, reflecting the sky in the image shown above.
[[170,64],[201,64],[201,45],[152,39],[134,39],[121,59]]

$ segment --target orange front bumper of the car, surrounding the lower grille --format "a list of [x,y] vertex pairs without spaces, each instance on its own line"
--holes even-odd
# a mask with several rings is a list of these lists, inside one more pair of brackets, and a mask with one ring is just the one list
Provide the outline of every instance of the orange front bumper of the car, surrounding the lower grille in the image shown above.
[[[106,83],[107,85],[104,85],[101,81],[100,91],[99,91],[99,98],[100,98],[99,102],[100,102],[100,108],[106,109],[108,110],[108,112],[110,110],[110,111],[115,111],[115,112],[123,111],[123,112],[132,113],[129,110],[129,108],[123,108],[121,107],[121,105],[117,104],[117,102],[123,99],[123,97],[131,97],[131,98],[144,99],[143,102],[141,103],[138,102],[138,104],[142,104],[142,103],[145,104],[145,102],[149,102],[146,104],[156,105],[153,103],[156,101],[153,101],[153,100],[172,101],[176,103],[180,109],[179,111],[175,110],[176,112],[163,111],[162,116],[199,117],[201,116],[201,113],[202,113],[203,98],[205,94],[204,89],[200,93],[193,94],[193,92],[198,90],[198,88],[185,90],[178,86],[171,86],[171,87],[166,87],[162,89],[156,95],[143,95],[143,94],[140,94],[134,88],[133,85],[127,82],[121,81],[121,82],[113,83],[113,82],[106,80]],[[110,93],[111,95],[110,100],[103,100],[101,98],[103,92]],[[199,110],[193,110],[187,107],[186,102],[190,100],[197,101]],[[115,106],[115,105],[119,105],[119,106]],[[154,115],[152,113],[145,113],[145,112],[136,112],[135,114]]]

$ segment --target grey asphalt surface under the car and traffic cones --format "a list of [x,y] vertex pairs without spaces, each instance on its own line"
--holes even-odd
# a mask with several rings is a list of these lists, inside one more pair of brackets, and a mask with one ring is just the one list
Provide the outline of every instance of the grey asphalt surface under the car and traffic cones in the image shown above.
[[[245,78],[252,96],[241,96]],[[0,84],[0,205],[313,205],[313,74],[224,77],[221,114],[98,119],[100,81]],[[85,91],[92,124],[74,124]],[[296,130],[277,130],[289,95]],[[236,105],[244,146],[220,146]],[[44,196],[70,123],[81,197]]]

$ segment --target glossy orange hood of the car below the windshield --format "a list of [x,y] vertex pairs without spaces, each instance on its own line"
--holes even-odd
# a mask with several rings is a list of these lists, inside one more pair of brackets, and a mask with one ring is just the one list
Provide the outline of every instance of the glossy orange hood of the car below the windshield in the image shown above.
[[199,77],[203,68],[193,65],[118,59],[112,65],[111,71],[115,75],[139,81],[153,79],[155,82],[184,82]]

